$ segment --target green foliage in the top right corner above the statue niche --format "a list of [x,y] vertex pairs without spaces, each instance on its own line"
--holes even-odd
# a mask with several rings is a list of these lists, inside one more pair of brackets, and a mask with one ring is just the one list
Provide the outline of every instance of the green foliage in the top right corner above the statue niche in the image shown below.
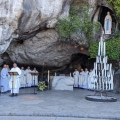
[[120,0],[108,0],[108,2],[114,7],[117,18],[120,23]]

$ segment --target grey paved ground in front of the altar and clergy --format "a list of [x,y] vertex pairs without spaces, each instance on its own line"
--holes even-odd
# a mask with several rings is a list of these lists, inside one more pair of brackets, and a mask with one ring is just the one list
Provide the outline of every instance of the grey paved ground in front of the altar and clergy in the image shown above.
[[30,93],[33,93],[33,88],[20,89],[17,97],[2,94],[0,120],[10,120],[11,116],[11,120],[28,120],[29,116],[29,120],[33,120],[32,117],[34,120],[120,120],[120,94],[109,92],[108,95],[118,101],[103,103],[85,100],[86,95],[93,95],[94,92],[81,89],[37,91],[37,95]]

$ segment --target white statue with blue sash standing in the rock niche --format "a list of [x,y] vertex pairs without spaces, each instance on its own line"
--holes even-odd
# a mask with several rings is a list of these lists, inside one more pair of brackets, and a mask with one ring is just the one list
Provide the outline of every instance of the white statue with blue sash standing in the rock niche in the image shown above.
[[111,34],[111,28],[112,28],[112,17],[110,15],[110,12],[107,12],[107,15],[104,21],[105,34]]

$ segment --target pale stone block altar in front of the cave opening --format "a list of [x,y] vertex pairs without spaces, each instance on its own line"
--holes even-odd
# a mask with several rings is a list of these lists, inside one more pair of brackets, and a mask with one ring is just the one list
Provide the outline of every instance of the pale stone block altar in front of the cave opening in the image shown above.
[[74,78],[71,76],[54,76],[52,80],[52,90],[73,91]]

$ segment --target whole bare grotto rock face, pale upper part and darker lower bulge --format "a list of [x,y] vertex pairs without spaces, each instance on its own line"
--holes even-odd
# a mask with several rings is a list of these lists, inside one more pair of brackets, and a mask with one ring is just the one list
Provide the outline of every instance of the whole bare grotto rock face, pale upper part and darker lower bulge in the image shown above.
[[[0,0],[0,55],[6,52],[20,64],[42,65],[44,60],[46,66],[54,67],[68,64],[72,54],[89,55],[87,50],[60,45],[54,30],[57,20],[69,15],[73,1],[77,0]],[[83,1],[90,6],[91,19],[97,21],[101,1]],[[105,1],[103,6],[110,7]],[[0,64],[3,61],[0,56]]]

